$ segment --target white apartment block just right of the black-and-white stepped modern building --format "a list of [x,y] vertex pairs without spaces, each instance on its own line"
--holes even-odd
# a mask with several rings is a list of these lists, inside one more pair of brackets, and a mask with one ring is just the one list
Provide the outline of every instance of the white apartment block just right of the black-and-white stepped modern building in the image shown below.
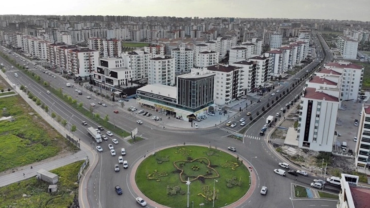
[[122,53],[125,67],[131,68],[133,80],[141,80],[148,78],[148,70],[150,67],[151,53],[135,50]]

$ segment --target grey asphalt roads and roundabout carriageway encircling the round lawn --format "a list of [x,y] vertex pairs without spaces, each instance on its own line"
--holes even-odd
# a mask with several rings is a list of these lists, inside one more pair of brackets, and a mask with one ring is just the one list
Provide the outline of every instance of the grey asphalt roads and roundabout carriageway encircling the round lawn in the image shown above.
[[[319,38],[322,41],[322,37],[319,36]],[[318,40],[314,39],[314,41],[317,45],[319,45]],[[321,46],[319,46],[316,52],[320,54],[320,57],[325,57],[325,61],[332,60],[332,54],[328,54],[327,56],[325,56],[325,51],[326,49],[329,50],[329,47],[327,47],[326,43],[323,43],[323,46],[324,49],[319,49],[321,48]],[[22,63],[22,61],[20,60],[17,61]],[[17,84],[17,87],[22,84],[27,85],[27,88],[34,95],[40,98],[43,103],[48,105],[51,111],[55,111],[55,113],[63,117],[68,122],[66,126],[67,129],[72,124],[74,124],[77,126],[78,129],[76,132],[74,132],[74,134],[78,138],[81,138],[81,140],[83,140],[84,142],[92,141],[87,136],[86,128],[90,126],[96,128],[98,124],[84,117],[84,115],[74,110],[74,108],[70,107],[68,104],[65,104],[55,95],[47,94],[46,89],[43,86],[34,82],[22,71],[16,70],[16,68],[11,68],[11,64],[3,58],[1,58],[1,63],[4,63],[5,67],[7,68],[6,75],[13,83]],[[313,69],[318,64],[320,63],[316,61],[310,63],[305,69],[308,70],[308,72],[306,72],[305,70],[299,71],[294,77],[286,80],[282,86],[275,88],[274,91],[280,90],[279,93],[276,93],[276,95],[274,96],[271,96],[271,93],[273,93],[273,91],[267,93],[263,98],[260,99],[260,103],[255,103],[253,106],[248,107],[247,112],[250,111],[252,113],[252,117],[256,117],[257,111],[261,113],[261,108],[263,106],[265,106],[266,108],[266,104],[268,102],[271,102],[271,100],[274,99],[276,96],[282,94],[282,92],[286,91],[287,88],[292,87],[292,84],[298,81],[306,73],[313,73]],[[123,169],[121,165],[120,172],[114,172],[114,164],[118,164],[118,156],[120,155],[121,148],[126,149],[127,154],[124,156],[124,160],[127,160],[130,166],[134,164],[135,161],[138,160],[138,158],[144,157],[144,155],[146,155],[148,151],[172,144],[182,144],[184,142],[194,144],[210,143],[212,146],[217,146],[223,149],[226,149],[228,146],[237,147],[237,154],[240,155],[239,157],[243,158],[243,160],[245,161],[251,161],[253,165],[253,170],[256,171],[256,173],[258,174],[258,181],[256,181],[258,185],[256,191],[252,194],[248,201],[240,207],[265,208],[276,207],[277,204],[279,204],[279,207],[292,207],[292,203],[295,207],[300,207],[300,203],[297,203],[297,201],[294,200],[292,201],[289,198],[291,196],[291,183],[296,182],[297,184],[308,187],[309,184],[313,181],[314,177],[311,175],[308,175],[307,177],[304,177],[302,175],[295,177],[293,175],[286,174],[286,177],[281,177],[273,173],[273,170],[275,168],[279,168],[278,163],[281,161],[279,157],[276,157],[267,148],[266,142],[264,140],[266,136],[261,137],[260,140],[245,137],[245,139],[241,142],[239,140],[225,137],[226,135],[228,135],[228,133],[219,129],[225,127],[225,125],[221,125],[220,127],[202,129],[201,131],[196,132],[195,130],[162,129],[161,126],[156,125],[154,121],[144,122],[144,124],[139,125],[136,123],[136,120],[138,119],[132,114],[123,112],[119,103],[102,101],[101,98],[95,97],[93,94],[87,92],[81,86],[77,86],[77,88],[78,90],[81,90],[83,92],[83,95],[77,95],[77,92],[74,90],[76,88],[76,85],[74,88],[66,87],[65,83],[67,81],[64,78],[61,78],[59,75],[55,74],[57,78],[51,78],[51,76],[42,73],[39,69],[33,69],[33,71],[43,77],[44,80],[51,80],[50,84],[53,87],[63,88],[64,93],[70,94],[74,99],[78,100],[78,103],[83,102],[86,108],[90,106],[90,103],[95,103],[96,106],[94,107],[94,112],[99,113],[101,117],[109,115],[111,123],[114,123],[115,125],[127,131],[131,131],[134,128],[138,127],[139,134],[141,134],[142,137],[146,138],[145,140],[139,141],[135,144],[129,144],[122,138],[116,137],[114,135],[113,137],[108,137],[107,141],[103,141],[102,143],[98,144],[103,148],[103,152],[101,152],[100,154],[100,162],[98,163],[98,166],[94,169],[91,178],[88,181],[87,187],[91,207],[132,208],[138,206],[135,203],[135,198],[137,197],[137,195],[132,191],[132,185],[128,181],[129,174],[133,174],[130,172],[130,168]],[[18,73],[19,77],[14,77],[14,73]],[[52,72],[51,74],[54,75]],[[293,78],[296,78],[296,80],[293,80]],[[265,115],[263,115],[263,117],[266,118],[268,115],[275,115],[277,112],[280,112],[280,108],[286,108],[286,103],[289,103],[289,101],[291,101],[296,94],[302,93],[302,86],[304,85],[304,83],[305,81],[302,81],[298,84],[297,87],[293,88],[292,91],[289,91],[289,94],[280,99],[279,104],[276,104],[274,107],[272,107]],[[91,96],[91,99],[87,99],[86,96]],[[103,107],[102,105],[98,105],[98,101],[102,101],[102,103],[107,103],[108,106]],[[274,101],[276,100],[274,99]],[[294,105],[296,105],[296,103]],[[113,113],[113,110],[118,110],[120,111],[120,113],[115,114]],[[261,117],[253,125],[251,125],[250,128],[245,132],[245,135],[260,137],[260,129],[263,127],[266,121],[263,117]],[[250,122],[249,116],[245,115],[245,111],[243,111],[243,114],[239,115],[234,120],[239,121],[240,118],[245,118],[247,125]],[[143,120],[143,118],[140,117],[140,120]],[[86,121],[88,125],[82,125],[82,121]],[[237,131],[240,129],[239,125],[237,125],[237,127],[238,128],[235,128],[233,130]],[[103,131],[103,134],[105,134],[105,131]],[[111,142],[112,138],[117,138],[119,144],[113,144]],[[108,144],[114,145],[114,148],[117,152],[116,156],[110,155]],[[92,147],[95,147],[96,144],[91,143],[91,145]],[[117,195],[115,193],[115,185],[120,185],[120,187],[123,189],[122,195]],[[268,187],[268,194],[266,196],[262,196],[259,193],[262,186]],[[330,185],[325,187],[324,190],[339,192],[338,187],[333,187]],[[265,200],[266,197],[268,197],[268,200]],[[315,201],[317,201],[315,202],[317,206],[319,206],[320,204],[327,205],[327,202],[318,200]],[[150,203],[148,204],[148,207],[152,207]]]

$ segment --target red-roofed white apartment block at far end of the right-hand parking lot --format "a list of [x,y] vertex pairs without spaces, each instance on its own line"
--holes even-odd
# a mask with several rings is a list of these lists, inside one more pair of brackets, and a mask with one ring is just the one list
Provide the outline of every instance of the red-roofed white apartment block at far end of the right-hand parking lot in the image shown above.
[[324,67],[343,74],[341,99],[357,100],[361,92],[364,67],[347,61],[330,62]]

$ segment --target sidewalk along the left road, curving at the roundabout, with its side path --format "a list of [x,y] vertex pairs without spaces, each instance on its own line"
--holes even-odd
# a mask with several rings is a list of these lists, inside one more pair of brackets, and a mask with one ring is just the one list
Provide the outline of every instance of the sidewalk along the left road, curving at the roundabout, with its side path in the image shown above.
[[[4,74],[2,71],[0,71],[0,75],[11,86],[13,86],[13,83],[11,83],[11,81],[7,78],[6,74]],[[30,100],[27,97],[27,95],[25,93],[23,93],[23,91],[21,91],[19,89],[19,87],[16,86],[14,88],[14,90],[23,98],[24,101],[27,102],[28,105],[30,105],[34,109],[34,111],[36,111],[36,113],[38,113],[44,120],[46,120],[52,127],[54,127],[55,130],[57,130],[61,135],[65,136],[67,134],[70,134],[70,132],[68,132],[57,121],[55,121],[53,118],[51,118],[50,115],[48,113],[46,113],[40,106],[37,106],[32,100]],[[70,136],[75,141],[80,141],[74,135],[70,134]],[[87,198],[87,191],[86,191],[85,188],[87,187],[88,178],[90,178],[91,172],[94,170],[94,168],[98,164],[99,157],[98,157],[98,154],[95,151],[95,149],[94,148],[91,148],[91,145],[90,144],[87,144],[87,143],[85,143],[83,141],[80,141],[80,142],[81,142],[80,143],[80,149],[81,149],[81,151],[77,152],[74,155],[71,155],[71,156],[68,156],[68,157],[65,157],[65,158],[61,158],[59,160],[63,161],[63,162],[61,162],[63,165],[67,165],[67,164],[70,164],[72,162],[78,161],[78,158],[81,158],[82,160],[84,160],[87,157],[89,159],[89,165],[85,168],[84,174],[82,174],[82,177],[80,179],[80,184],[79,184],[79,188],[78,188],[78,201],[80,203],[80,207],[81,208],[90,208],[90,204],[89,204],[88,198]],[[79,155],[76,156],[77,154],[79,154]],[[84,156],[81,156],[80,154],[81,155],[84,155]],[[58,161],[58,160],[56,160],[56,161]],[[44,168],[44,169],[45,170],[52,170],[52,169],[57,168],[55,166],[55,164],[53,164],[54,162],[55,161],[48,162],[46,164],[43,164],[43,165],[46,165],[46,166],[50,166],[49,168]],[[61,166],[63,166],[63,165],[61,165]],[[30,164],[30,166],[31,166],[31,164]],[[35,173],[36,173],[36,171],[38,170],[37,168],[39,166],[41,166],[41,165],[36,166],[35,168],[32,169],[32,171],[35,171]],[[29,170],[31,170],[31,169],[29,169]],[[32,172],[29,172],[30,177],[32,177],[31,173]],[[18,174],[20,175],[20,173],[18,173]],[[17,181],[24,180],[26,178],[26,173],[24,173],[24,174],[25,174],[24,177],[22,177],[23,176],[23,173],[21,173],[20,177],[17,174],[14,174],[14,175],[10,174],[10,175],[13,177],[13,182],[17,182]],[[4,176],[4,177],[7,177],[7,175]],[[3,181],[3,180],[1,180],[1,181]]]

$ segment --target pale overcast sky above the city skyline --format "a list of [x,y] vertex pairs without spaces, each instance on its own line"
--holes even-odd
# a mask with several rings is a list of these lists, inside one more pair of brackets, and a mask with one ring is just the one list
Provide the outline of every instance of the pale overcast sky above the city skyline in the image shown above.
[[307,18],[370,21],[370,0],[5,0],[0,14]]

